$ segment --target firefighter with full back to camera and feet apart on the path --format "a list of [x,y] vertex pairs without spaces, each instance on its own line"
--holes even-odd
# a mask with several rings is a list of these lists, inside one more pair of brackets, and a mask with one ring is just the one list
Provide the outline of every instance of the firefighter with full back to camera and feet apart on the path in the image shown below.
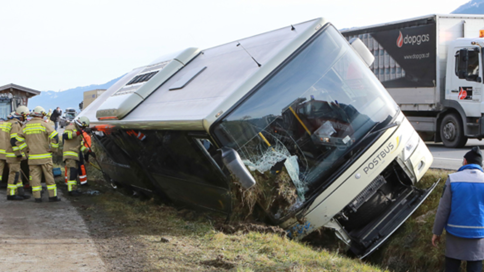
[[32,180],[32,195],[35,202],[42,202],[42,173],[45,176],[45,183],[49,193],[49,202],[61,201],[57,196],[57,185],[52,173],[52,152],[57,151],[59,147],[59,135],[51,125],[44,121],[46,115],[45,109],[36,106],[30,116],[32,119],[23,127],[22,131],[17,133],[16,146],[20,151],[29,149],[29,169]]

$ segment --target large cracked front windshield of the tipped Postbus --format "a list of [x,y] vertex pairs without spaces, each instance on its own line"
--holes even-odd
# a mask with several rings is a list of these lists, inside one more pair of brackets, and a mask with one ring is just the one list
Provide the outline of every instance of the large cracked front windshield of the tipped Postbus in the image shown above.
[[287,173],[299,201],[344,163],[398,107],[341,34],[329,25],[214,126],[260,179]]

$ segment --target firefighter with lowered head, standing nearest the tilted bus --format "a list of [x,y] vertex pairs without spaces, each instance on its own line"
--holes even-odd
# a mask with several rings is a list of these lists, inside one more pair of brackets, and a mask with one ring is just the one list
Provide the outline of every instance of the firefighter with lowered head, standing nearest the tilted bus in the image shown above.
[[89,127],[89,119],[85,116],[76,118],[64,130],[62,140],[64,141],[64,151],[62,153],[62,161],[65,163],[67,170],[67,190],[70,196],[80,196],[81,193],[77,190],[77,168],[79,167],[80,152],[86,155],[91,155],[93,158],[96,154],[90,148],[84,145],[83,129]]

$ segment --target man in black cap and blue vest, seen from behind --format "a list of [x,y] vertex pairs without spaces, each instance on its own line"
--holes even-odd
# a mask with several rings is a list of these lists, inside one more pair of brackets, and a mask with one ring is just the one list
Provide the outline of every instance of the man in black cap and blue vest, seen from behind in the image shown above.
[[437,247],[445,227],[445,271],[482,271],[484,259],[484,173],[479,147],[464,155],[462,167],[449,175],[440,198],[432,233]]

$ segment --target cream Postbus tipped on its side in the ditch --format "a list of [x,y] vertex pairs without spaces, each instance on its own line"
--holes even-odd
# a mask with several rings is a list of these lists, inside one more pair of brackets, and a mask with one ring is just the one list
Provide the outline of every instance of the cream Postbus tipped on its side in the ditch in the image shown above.
[[414,186],[433,158],[361,45],[318,18],[188,48],[129,72],[80,116],[118,184],[227,214],[234,186],[258,190],[290,237],[328,227],[364,257],[435,184]]

